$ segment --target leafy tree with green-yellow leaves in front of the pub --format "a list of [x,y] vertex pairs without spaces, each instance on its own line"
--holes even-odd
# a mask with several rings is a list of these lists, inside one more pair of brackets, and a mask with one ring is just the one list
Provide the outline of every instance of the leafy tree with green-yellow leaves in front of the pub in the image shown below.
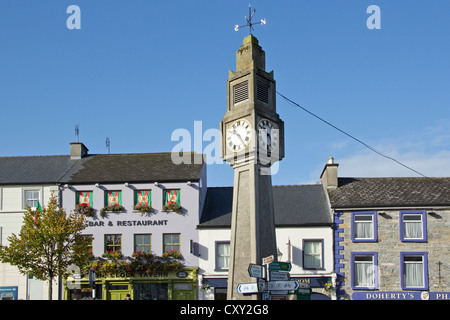
[[52,193],[42,210],[27,207],[19,235],[8,237],[9,246],[0,246],[0,261],[17,266],[22,274],[48,281],[51,300],[54,278],[67,279],[69,266],[82,269],[89,262],[90,240],[81,234],[85,227],[85,216],[66,214]]

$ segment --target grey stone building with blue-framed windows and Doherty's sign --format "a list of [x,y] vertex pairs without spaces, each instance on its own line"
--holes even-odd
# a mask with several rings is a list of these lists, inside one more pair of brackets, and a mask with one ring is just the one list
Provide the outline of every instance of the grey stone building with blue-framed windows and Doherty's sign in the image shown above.
[[322,172],[334,223],[338,299],[450,300],[450,178]]

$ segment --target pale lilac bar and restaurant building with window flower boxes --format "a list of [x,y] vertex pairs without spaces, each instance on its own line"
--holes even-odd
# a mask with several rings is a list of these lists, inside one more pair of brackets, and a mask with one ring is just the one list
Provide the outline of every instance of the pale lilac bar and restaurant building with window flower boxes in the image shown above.
[[[61,185],[62,207],[87,216],[83,234],[92,240],[95,298],[196,299],[202,155],[176,165],[171,153],[88,155],[82,143],[72,148],[79,159]],[[64,299],[93,294],[88,272],[75,268]]]

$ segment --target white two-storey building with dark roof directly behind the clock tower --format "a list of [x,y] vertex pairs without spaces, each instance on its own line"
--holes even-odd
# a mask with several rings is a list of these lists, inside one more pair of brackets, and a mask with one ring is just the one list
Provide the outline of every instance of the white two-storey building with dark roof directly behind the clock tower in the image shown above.
[[[322,185],[273,188],[278,261],[290,262],[291,280],[305,283],[311,299],[335,299],[331,211]],[[233,188],[208,188],[199,229],[199,299],[225,299]],[[256,281],[256,279],[255,279]]]

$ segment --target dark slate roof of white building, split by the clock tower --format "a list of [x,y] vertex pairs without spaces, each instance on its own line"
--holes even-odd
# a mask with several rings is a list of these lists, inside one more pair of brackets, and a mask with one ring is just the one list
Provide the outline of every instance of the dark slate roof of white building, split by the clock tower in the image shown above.
[[[274,186],[275,226],[330,226],[322,185]],[[233,187],[208,188],[198,228],[231,228]]]

